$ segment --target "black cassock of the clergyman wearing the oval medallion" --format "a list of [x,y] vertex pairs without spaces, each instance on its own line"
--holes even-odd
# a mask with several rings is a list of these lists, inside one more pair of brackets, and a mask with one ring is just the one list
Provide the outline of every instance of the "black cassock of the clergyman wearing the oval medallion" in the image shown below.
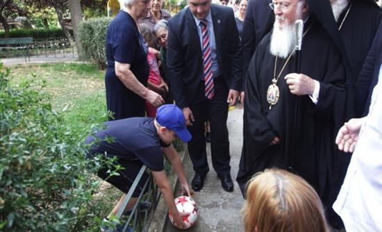
[[[290,93],[284,77],[294,72],[292,56],[277,83],[279,101],[269,110],[267,89],[274,76],[276,57],[269,52],[271,33],[267,34],[256,49],[246,78],[244,144],[237,177],[240,185],[265,168],[287,168],[291,165],[322,196],[331,177],[331,156],[335,151],[333,130],[335,123],[342,118],[346,97],[342,56],[313,16],[304,25],[304,30],[308,32],[302,45],[301,73],[319,81],[319,101],[315,105],[307,95],[297,97]],[[276,76],[285,61],[277,59]],[[296,111],[297,98],[299,108]],[[343,108],[338,107],[341,102]],[[294,129],[296,116],[297,130]],[[281,142],[269,146],[275,136]],[[292,149],[294,140],[297,148]],[[287,161],[292,156],[291,150],[295,150],[292,164]]]

